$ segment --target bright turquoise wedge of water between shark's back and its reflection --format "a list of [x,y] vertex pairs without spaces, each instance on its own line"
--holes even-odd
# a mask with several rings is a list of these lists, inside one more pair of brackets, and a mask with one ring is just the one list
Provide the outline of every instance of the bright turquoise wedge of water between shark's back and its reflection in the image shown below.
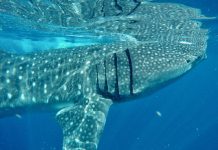
[[84,28],[41,25],[19,17],[0,14],[0,49],[10,52],[29,53],[126,40],[132,39],[127,35],[102,34]]

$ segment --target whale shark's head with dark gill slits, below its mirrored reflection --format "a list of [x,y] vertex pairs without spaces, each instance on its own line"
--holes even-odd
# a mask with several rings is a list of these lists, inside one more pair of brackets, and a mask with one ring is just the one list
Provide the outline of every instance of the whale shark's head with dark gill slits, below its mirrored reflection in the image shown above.
[[[194,44],[194,43],[193,43]],[[150,94],[205,58],[205,45],[189,51],[189,45],[140,43],[122,48],[96,65],[97,93],[114,102]]]

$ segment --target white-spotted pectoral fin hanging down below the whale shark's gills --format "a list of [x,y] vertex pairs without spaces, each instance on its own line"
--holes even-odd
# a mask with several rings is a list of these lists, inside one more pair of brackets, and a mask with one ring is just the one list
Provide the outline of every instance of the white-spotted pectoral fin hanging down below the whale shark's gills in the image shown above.
[[103,131],[110,100],[91,98],[56,115],[63,128],[63,150],[96,150]]

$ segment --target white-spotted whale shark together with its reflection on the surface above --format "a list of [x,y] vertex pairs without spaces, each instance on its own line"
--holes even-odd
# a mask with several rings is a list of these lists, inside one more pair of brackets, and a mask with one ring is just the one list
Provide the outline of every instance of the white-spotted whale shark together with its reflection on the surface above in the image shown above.
[[64,150],[96,150],[113,103],[144,96],[205,58],[208,31],[199,20],[206,17],[180,4],[15,0],[1,2],[0,10],[35,22],[34,29],[49,23],[125,37],[28,53],[0,51],[0,116],[57,111]]

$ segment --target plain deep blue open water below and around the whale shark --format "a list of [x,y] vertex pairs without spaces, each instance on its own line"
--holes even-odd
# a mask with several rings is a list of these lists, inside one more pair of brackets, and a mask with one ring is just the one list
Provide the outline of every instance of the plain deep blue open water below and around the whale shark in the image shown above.
[[[218,17],[217,0],[182,3]],[[113,105],[99,150],[218,149],[218,20],[209,28],[207,59],[156,93]],[[59,36],[58,36],[59,37]],[[0,119],[0,150],[60,150],[62,133],[53,113]]]

